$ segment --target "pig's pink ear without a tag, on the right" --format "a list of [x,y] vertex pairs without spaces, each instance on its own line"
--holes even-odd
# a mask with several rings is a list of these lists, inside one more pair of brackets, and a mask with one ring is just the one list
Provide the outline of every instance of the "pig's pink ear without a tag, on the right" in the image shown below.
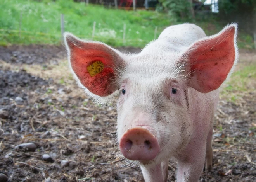
[[196,41],[183,53],[190,87],[202,93],[220,87],[237,61],[236,35],[237,24],[231,24],[214,36]]

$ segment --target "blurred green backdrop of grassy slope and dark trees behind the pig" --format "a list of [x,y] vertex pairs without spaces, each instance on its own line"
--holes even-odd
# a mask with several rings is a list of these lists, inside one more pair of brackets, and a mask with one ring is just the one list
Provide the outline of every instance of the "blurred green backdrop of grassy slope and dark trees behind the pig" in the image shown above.
[[195,23],[212,35],[238,22],[239,48],[254,49],[256,0],[137,0],[136,11],[131,0],[118,0],[117,9],[114,0],[88,2],[1,0],[0,45],[60,44],[64,14],[65,31],[112,46],[143,47],[173,24]]

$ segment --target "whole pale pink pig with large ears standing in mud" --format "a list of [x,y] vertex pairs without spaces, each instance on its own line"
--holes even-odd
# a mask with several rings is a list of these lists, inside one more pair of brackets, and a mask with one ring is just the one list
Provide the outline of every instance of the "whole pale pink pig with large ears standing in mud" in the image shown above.
[[138,54],[65,34],[71,71],[97,104],[116,97],[122,155],[146,182],[165,182],[168,160],[177,182],[211,170],[213,119],[221,85],[238,60],[237,24],[207,37],[195,24],[167,27]]

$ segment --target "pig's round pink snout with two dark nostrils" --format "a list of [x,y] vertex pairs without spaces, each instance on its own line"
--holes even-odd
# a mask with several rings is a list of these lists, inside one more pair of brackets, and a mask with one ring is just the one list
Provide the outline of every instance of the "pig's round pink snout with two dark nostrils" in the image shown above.
[[130,160],[153,160],[160,151],[156,137],[142,127],[127,130],[120,139],[119,147],[125,158]]

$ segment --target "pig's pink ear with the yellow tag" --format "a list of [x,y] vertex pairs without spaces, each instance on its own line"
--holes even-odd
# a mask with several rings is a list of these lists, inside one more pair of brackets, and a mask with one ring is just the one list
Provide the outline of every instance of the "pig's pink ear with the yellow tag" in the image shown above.
[[81,85],[101,97],[118,90],[117,70],[125,66],[119,51],[104,43],[83,41],[69,33],[65,34],[65,44],[71,68]]

